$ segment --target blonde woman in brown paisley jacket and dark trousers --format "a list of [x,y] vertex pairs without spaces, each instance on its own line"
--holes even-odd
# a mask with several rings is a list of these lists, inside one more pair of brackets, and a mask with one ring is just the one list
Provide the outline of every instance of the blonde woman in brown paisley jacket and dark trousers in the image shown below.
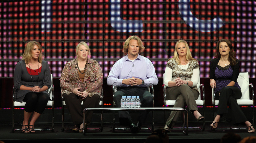
[[[66,63],[60,77],[61,94],[74,123],[73,131],[83,133],[84,108],[98,107],[103,74],[96,60],[89,58],[89,46],[80,42],[74,60]],[[83,105],[81,106],[81,102]],[[85,112],[86,127],[91,122],[92,111]]]

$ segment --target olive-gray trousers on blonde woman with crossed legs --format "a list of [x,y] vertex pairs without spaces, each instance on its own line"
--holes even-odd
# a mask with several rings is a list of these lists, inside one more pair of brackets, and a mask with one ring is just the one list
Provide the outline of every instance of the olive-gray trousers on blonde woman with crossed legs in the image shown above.
[[[198,97],[199,93],[186,84],[179,87],[168,87],[166,89],[166,100],[176,100],[173,107],[184,108],[185,105],[187,105],[189,111],[198,110],[196,104],[196,99],[198,99]],[[172,111],[165,124],[170,128],[173,128],[182,112],[183,111]]]

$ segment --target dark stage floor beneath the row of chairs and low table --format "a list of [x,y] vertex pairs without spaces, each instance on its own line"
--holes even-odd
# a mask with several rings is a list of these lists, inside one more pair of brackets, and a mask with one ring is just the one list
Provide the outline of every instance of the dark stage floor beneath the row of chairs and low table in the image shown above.
[[[240,135],[242,138],[256,135],[256,134],[248,134],[247,130],[215,130],[211,131],[209,127],[211,122],[205,122],[205,131],[196,129],[188,130],[188,135],[184,135],[182,130],[173,129],[170,133],[167,133],[169,136],[169,142],[181,142],[181,141],[207,141],[207,143],[218,143],[223,135],[226,133],[236,133]],[[177,126],[181,127],[182,123],[177,123]],[[45,125],[42,124],[35,124],[38,128],[45,128]],[[50,125],[49,125],[50,126]],[[150,124],[145,124],[143,127],[150,127]],[[189,127],[192,126],[202,126],[202,122],[189,122]],[[235,126],[231,123],[220,123],[219,127],[245,127],[242,125]],[[19,127],[19,125],[16,125]],[[88,128],[99,128],[100,124],[95,123],[90,125]],[[124,127],[119,126],[116,124],[116,127]],[[162,128],[163,125],[156,124],[154,129]],[[65,128],[72,128],[72,125],[67,125]],[[121,130],[121,131],[112,131],[112,124],[111,123],[104,123],[103,124],[103,132],[88,130],[86,135],[84,136],[82,133],[73,133],[72,131],[64,131],[61,132],[61,124],[54,124],[54,132],[52,131],[37,131],[36,133],[21,133],[21,131],[16,131],[12,133],[11,125],[0,125],[0,140],[4,141],[5,143],[9,142],[62,142],[62,143],[70,143],[76,141],[86,141],[86,142],[122,142],[122,143],[143,143],[146,138],[151,135],[150,130],[141,130],[138,134],[131,134],[130,130]]]

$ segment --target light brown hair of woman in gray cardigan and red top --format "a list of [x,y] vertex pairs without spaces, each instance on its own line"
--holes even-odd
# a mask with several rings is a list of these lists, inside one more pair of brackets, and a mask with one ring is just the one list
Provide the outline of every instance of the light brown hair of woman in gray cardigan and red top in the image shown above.
[[34,48],[34,45],[36,45],[40,50],[40,54],[37,60],[39,63],[42,63],[42,60],[43,60],[42,46],[36,41],[30,41],[27,43],[24,53],[22,55],[22,60],[25,60],[26,64],[28,64],[30,62],[30,59],[32,58],[32,50]]

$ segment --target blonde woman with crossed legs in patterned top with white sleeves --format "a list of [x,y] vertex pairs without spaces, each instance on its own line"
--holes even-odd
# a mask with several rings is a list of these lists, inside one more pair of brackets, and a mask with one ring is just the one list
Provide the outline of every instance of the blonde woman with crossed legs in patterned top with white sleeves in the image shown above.
[[[199,97],[197,84],[199,81],[199,64],[192,58],[188,44],[179,40],[175,45],[174,55],[167,62],[164,77],[166,89],[166,100],[176,100],[174,107],[187,107],[193,113],[197,121],[204,117],[198,112],[196,99]],[[164,130],[170,131],[182,111],[172,111],[167,119]]]

